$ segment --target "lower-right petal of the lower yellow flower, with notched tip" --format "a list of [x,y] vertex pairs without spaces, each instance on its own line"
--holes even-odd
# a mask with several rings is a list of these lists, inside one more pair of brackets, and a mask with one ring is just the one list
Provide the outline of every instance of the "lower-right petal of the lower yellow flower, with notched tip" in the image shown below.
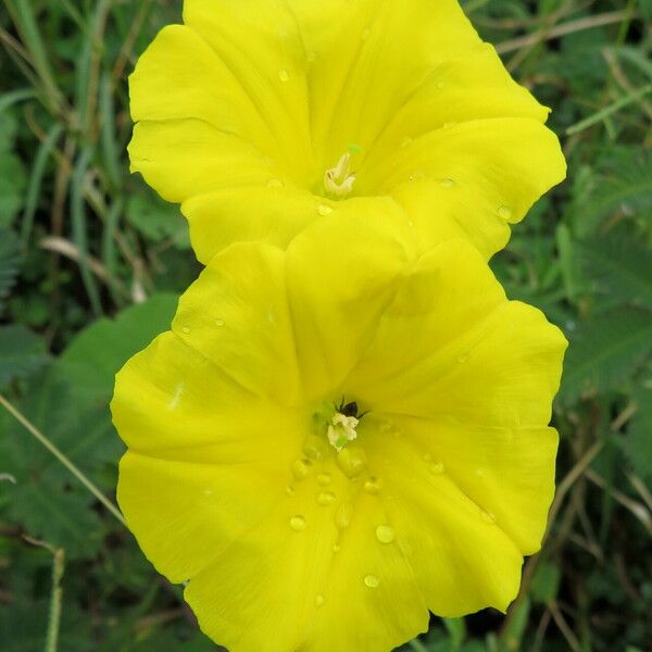
[[523,557],[500,523],[448,474],[431,473],[405,436],[381,432],[368,447],[383,480],[378,500],[396,531],[428,609],[457,617],[486,606],[506,611],[521,582]]

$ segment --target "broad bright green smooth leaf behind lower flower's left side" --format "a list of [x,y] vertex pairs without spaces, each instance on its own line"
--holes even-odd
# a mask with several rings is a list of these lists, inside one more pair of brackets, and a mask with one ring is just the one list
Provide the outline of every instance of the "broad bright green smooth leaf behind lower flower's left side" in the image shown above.
[[135,353],[170,328],[177,297],[154,294],[115,319],[98,319],[83,330],[57,362],[77,405],[108,405],[115,374]]

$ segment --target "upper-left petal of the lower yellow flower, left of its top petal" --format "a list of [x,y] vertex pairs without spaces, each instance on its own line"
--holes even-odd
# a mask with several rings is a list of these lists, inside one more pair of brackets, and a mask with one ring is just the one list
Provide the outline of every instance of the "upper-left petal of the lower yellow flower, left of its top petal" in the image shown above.
[[172,328],[237,384],[288,405],[300,383],[285,264],[268,244],[230,247],[181,297]]

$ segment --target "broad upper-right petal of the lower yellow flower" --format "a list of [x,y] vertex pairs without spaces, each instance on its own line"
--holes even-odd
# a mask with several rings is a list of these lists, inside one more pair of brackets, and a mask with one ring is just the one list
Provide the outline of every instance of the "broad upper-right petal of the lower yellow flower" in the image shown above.
[[477,251],[451,241],[406,278],[346,386],[372,410],[546,426],[565,348],[540,311],[504,298]]

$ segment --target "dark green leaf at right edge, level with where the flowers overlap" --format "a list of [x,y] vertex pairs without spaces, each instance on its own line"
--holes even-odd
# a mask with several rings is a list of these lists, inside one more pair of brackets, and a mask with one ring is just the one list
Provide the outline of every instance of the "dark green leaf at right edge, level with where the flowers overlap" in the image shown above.
[[582,269],[609,303],[652,310],[652,256],[640,240],[623,231],[576,242]]

